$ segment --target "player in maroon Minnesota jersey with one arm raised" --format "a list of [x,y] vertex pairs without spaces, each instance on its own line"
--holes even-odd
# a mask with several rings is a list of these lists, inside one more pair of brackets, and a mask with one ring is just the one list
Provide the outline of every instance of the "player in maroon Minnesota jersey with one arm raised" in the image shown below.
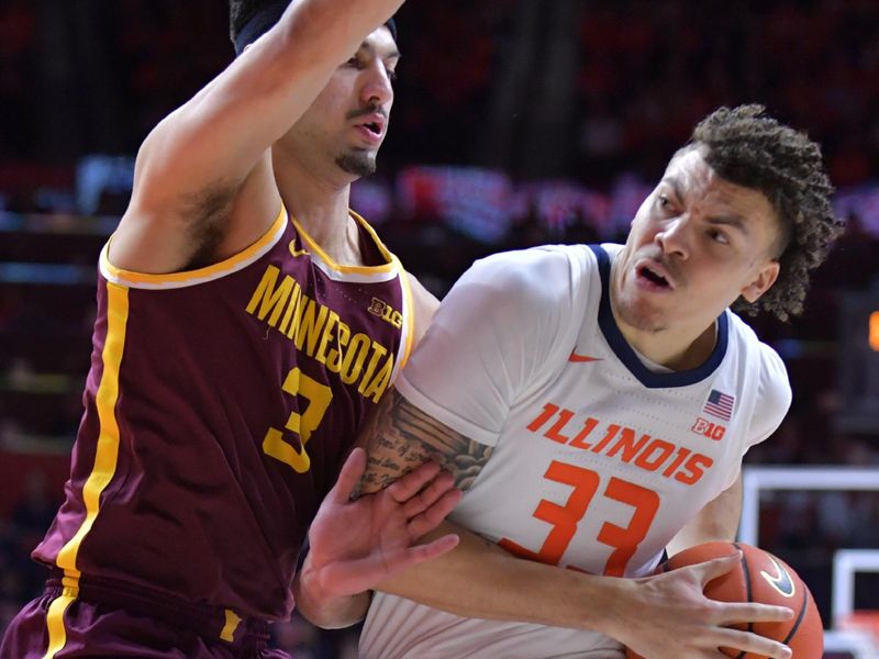
[[357,429],[436,304],[348,210],[388,130],[401,1],[233,2],[240,56],[144,142],[33,552],[52,576],[4,659],[282,656],[267,623],[294,601],[353,622],[456,544],[413,546],[459,496],[436,466],[348,501]]

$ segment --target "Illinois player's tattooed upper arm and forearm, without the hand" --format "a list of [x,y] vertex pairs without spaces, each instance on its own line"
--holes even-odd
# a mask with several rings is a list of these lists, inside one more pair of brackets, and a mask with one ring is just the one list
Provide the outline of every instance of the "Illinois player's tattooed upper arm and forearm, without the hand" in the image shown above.
[[[466,491],[492,451],[434,420],[396,390],[382,401],[365,439],[369,463],[364,492],[380,490],[429,459],[439,462]],[[589,606],[593,597],[607,600],[608,606],[600,611],[610,611],[614,589],[604,588],[609,584],[604,579],[519,559],[450,522],[441,524],[437,533],[458,534],[460,546],[383,581],[379,590],[463,617],[564,627],[599,628],[601,622]]]

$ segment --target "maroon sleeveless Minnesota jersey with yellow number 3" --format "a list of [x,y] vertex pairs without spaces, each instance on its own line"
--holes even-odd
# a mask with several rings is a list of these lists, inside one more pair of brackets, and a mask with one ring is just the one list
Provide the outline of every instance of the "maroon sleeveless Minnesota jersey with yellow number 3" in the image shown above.
[[100,259],[66,501],[34,558],[235,616],[283,618],[305,532],[411,347],[399,261],[335,264],[286,211],[209,268]]

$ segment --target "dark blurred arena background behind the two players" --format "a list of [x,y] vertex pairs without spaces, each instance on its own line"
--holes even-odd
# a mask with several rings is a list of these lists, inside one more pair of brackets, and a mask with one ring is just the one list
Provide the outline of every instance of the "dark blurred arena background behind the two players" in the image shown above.
[[[794,401],[747,463],[861,483],[759,499],[761,546],[830,626],[835,552],[879,548],[879,2],[411,0],[398,20],[390,135],[353,206],[437,295],[489,253],[623,236],[720,104],[763,102],[821,142],[847,228],[801,319],[754,321]],[[0,1],[0,632],[44,579],[27,555],[66,480],[96,258],[133,156],[231,57],[223,0]],[[879,559],[858,556],[875,563],[854,605],[879,610]],[[275,636],[297,658],[354,657],[351,630]],[[835,638],[827,657],[879,657]]]

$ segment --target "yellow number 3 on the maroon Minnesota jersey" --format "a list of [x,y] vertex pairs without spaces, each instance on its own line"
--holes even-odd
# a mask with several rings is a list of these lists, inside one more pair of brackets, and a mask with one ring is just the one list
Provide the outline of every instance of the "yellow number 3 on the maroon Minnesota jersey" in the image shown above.
[[283,432],[277,428],[269,428],[263,439],[263,451],[276,460],[286,462],[297,473],[304,473],[311,467],[311,458],[305,453],[305,444],[311,434],[321,425],[323,415],[330,407],[333,400],[333,390],[326,384],[321,384],[318,380],[309,378],[299,368],[294,368],[287,373],[283,381],[283,391],[292,396],[301,395],[308,400],[308,407],[303,413],[291,412],[285,426],[291,433],[299,435],[301,450],[293,448],[293,445],[283,438]]

